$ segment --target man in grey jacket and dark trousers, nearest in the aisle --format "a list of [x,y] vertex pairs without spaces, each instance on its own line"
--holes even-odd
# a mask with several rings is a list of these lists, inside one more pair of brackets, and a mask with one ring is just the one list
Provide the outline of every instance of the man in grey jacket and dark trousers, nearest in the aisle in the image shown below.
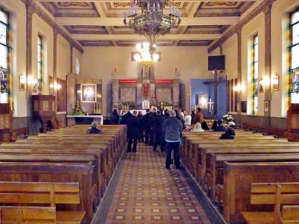
[[170,118],[165,120],[163,129],[165,130],[165,141],[166,141],[166,166],[165,168],[169,169],[171,164],[171,152],[174,154],[174,165],[177,169],[180,169],[180,140],[181,132],[183,129],[182,122],[179,119],[176,119],[176,112],[170,111]]

